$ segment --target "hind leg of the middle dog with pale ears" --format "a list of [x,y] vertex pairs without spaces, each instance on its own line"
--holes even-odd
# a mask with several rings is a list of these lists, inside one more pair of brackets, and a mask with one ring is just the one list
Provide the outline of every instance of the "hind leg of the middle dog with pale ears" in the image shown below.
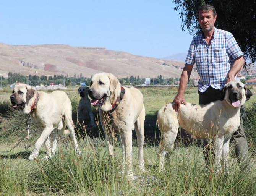
[[145,171],[145,165],[144,165],[144,159],[143,159],[143,145],[144,145],[144,140],[145,140],[145,135],[144,135],[144,120],[145,120],[145,108],[143,107],[143,111],[136,123],[135,123],[135,131],[138,139],[138,160],[139,160],[139,168],[142,171]]

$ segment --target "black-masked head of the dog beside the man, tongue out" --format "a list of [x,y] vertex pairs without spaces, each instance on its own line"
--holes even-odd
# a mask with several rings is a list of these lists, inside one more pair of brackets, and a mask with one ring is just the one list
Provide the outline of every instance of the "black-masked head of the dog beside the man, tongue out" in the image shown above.
[[252,92],[240,81],[230,81],[221,90],[221,100],[225,99],[232,107],[240,107],[252,95]]

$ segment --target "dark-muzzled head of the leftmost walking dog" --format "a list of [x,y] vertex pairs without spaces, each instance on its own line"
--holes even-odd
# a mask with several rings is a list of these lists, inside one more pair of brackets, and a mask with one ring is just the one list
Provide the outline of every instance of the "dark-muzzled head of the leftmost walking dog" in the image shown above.
[[26,84],[19,84],[13,88],[11,95],[11,104],[13,108],[21,113],[29,113],[33,104],[31,98],[36,94],[36,89]]

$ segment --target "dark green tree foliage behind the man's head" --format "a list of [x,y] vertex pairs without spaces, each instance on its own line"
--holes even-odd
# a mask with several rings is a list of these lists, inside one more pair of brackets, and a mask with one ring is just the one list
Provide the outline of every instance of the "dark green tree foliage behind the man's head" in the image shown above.
[[[201,31],[198,24],[198,7],[213,5],[217,12],[216,28],[229,31],[244,53],[246,62],[256,62],[256,0],[173,0],[180,11],[181,29],[192,35]],[[250,65],[250,63],[246,63]]]

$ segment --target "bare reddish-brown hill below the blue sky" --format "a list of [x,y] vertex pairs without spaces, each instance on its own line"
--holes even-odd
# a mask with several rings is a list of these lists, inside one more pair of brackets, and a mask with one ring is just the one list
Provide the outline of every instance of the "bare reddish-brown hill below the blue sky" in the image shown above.
[[[62,44],[8,45],[0,43],[0,76],[91,75],[113,73],[118,78],[133,76],[180,77],[184,62],[132,55],[104,47],[71,47]],[[191,74],[197,75],[195,70]],[[191,77],[191,78],[192,78]]]

